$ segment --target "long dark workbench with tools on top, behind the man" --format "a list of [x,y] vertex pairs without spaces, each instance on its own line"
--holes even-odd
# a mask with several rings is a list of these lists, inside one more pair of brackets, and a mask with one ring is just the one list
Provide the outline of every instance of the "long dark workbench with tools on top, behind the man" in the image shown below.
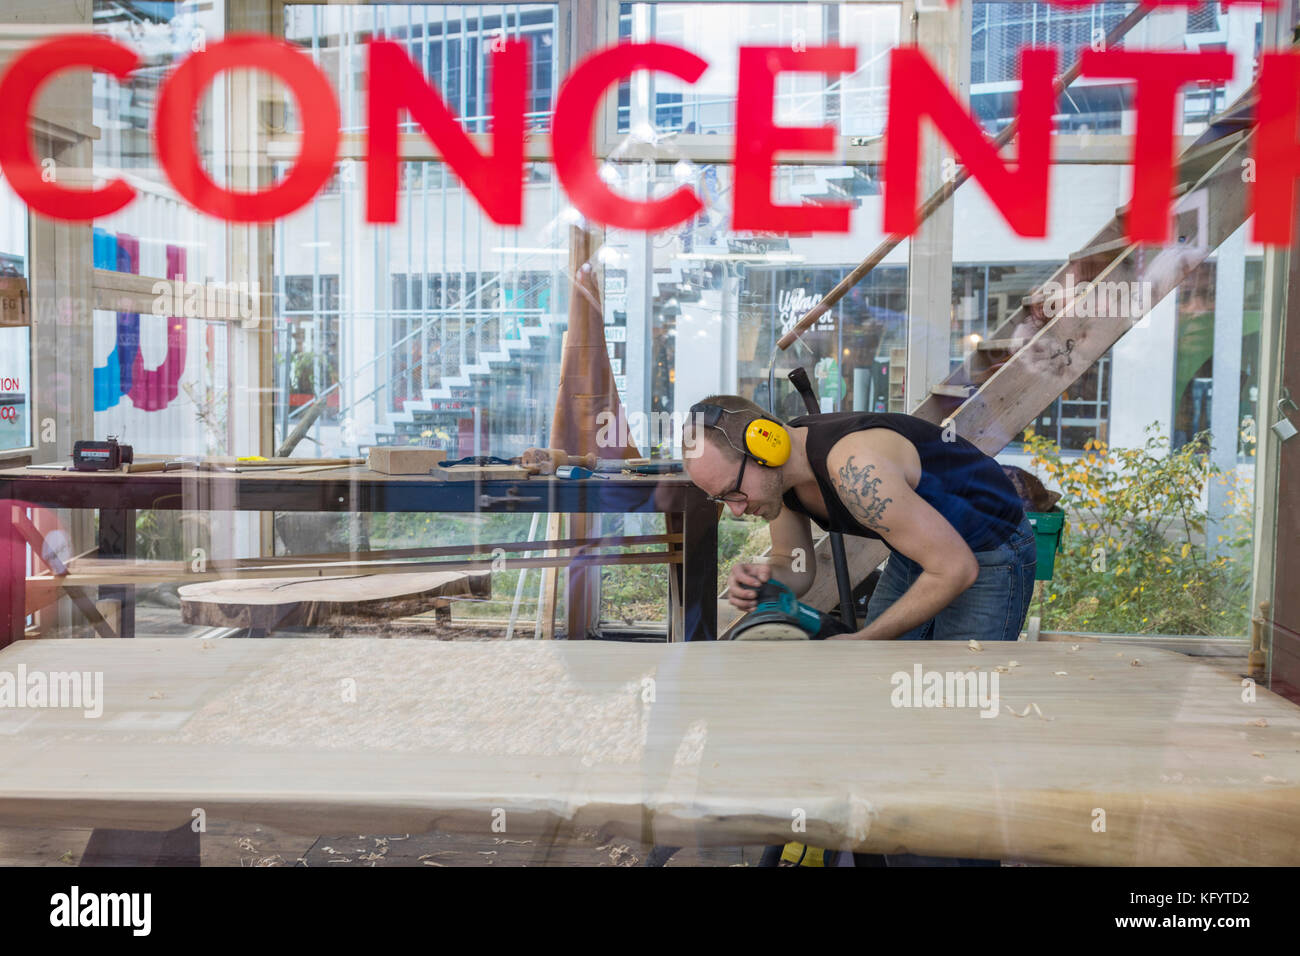
[[[311,459],[303,459],[311,466]],[[98,558],[131,561],[135,512],[173,511],[333,511],[333,512],[543,512],[667,515],[680,533],[677,578],[680,628],[685,640],[712,640],[718,622],[718,506],[681,475],[608,479],[533,476],[515,480],[438,480],[381,475],[365,467],[311,473],[291,471],[73,472],[10,468],[0,471],[0,501],[47,509],[98,509]],[[10,509],[0,507],[0,548],[9,567],[22,567],[25,544],[13,533]],[[538,544],[538,549],[545,548]],[[384,558],[384,551],[363,554]],[[23,632],[25,579],[0,580],[0,646]],[[99,588],[99,597],[121,602],[118,632],[134,635],[130,584]],[[585,636],[585,635],[584,635]]]

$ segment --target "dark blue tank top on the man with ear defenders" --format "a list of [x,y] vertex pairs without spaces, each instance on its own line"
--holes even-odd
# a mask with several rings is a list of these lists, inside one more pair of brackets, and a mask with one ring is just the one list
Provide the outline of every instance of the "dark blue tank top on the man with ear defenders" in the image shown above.
[[920,455],[916,494],[948,519],[972,551],[988,551],[1002,545],[1024,518],[1020,498],[997,462],[961,436],[944,441],[944,429],[924,419],[892,412],[832,412],[805,415],[790,420],[789,427],[809,429],[809,464],[816,475],[831,520],[822,522],[810,514],[793,488],[783,501],[788,509],[807,515],[824,531],[880,538],[880,535],[859,524],[840,501],[826,464],[840,438],[867,428],[888,428],[916,447]]

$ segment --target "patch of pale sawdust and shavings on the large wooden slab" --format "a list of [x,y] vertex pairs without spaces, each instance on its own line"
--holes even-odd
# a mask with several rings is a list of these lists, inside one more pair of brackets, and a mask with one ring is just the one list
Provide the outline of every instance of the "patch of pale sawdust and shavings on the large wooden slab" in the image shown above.
[[[654,667],[628,679],[589,678],[533,641],[377,644],[290,645],[177,730],[130,736],[294,752],[576,757],[586,766],[645,757],[653,704],[642,682]],[[673,763],[698,763],[706,737],[705,723],[692,723]]]

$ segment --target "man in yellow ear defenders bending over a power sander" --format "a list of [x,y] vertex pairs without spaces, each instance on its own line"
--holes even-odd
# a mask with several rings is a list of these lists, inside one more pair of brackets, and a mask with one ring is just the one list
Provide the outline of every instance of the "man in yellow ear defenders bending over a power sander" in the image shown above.
[[997,462],[953,431],[874,412],[783,424],[745,398],[712,395],[692,408],[684,444],[696,485],[771,524],[771,563],[732,568],[736,607],[751,610],[770,575],[796,594],[812,585],[811,519],[890,551],[864,627],[838,639],[1019,636],[1034,593],[1034,531]]

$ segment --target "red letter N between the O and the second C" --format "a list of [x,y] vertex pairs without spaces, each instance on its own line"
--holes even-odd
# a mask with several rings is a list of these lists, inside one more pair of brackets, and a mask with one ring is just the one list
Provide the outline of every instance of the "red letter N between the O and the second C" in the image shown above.
[[365,219],[396,222],[398,120],[402,109],[438,147],[493,222],[524,222],[524,98],[528,44],[510,40],[491,56],[493,151],[481,153],[455,114],[396,43],[369,46],[369,133],[365,148]]

